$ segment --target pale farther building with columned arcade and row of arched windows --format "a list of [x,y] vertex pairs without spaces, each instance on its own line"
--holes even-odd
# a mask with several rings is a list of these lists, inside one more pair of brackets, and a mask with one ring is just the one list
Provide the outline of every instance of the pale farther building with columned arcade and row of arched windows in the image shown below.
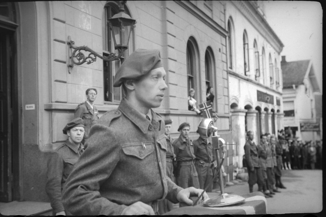
[[265,20],[263,1],[227,1],[225,17],[234,165],[242,168],[247,131],[257,144],[261,134],[283,129],[283,44]]

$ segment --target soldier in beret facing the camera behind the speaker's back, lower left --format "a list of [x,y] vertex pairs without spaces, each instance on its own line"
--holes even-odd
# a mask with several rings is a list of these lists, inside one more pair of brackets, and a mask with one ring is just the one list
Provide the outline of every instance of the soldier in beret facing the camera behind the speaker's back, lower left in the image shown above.
[[68,139],[49,156],[47,163],[45,191],[50,197],[53,215],[70,214],[62,205],[62,189],[74,164],[84,150],[84,146],[81,143],[85,132],[84,120],[80,117],[75,118],[67,123],[62,131],[68,135]]

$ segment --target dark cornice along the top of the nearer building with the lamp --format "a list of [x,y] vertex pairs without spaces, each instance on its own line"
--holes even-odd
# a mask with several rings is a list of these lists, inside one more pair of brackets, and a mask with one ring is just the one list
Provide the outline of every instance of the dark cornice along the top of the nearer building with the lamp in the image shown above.
[[215,22],[211,17],[209,17],[206,13],[204,13],[202,10],[200,10],[197,6],[195,6],[191,1],[174,1],[184,9],[186,9],[188,12],[190,12],[192,15],[197,17],[199,20],[201,20],[204,24],[209,26],[212,30],[217,32],[218,34],[221,34],[222,36],[226,37],[228,35],[228,32],[220,26],[217,22]]

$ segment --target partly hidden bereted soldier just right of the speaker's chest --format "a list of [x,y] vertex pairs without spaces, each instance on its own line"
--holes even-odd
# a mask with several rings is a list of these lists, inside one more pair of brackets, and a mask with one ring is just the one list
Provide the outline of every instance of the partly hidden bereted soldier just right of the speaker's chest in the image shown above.
[[[175,178],[173,176],[173,164],[175,161],[175,154],[174,154],[174,147],[173,147],[173,139],[170,137],[171,127],[172,127],[172,120],[166,119],[164,120],[165,123],[165,139],[166,139],[166,175],[170,177],[170,179],[175,182]],[[167,199],[158,201],[158,213],[163,215],[166,212],[169,212],[173,209],[173,203]]]

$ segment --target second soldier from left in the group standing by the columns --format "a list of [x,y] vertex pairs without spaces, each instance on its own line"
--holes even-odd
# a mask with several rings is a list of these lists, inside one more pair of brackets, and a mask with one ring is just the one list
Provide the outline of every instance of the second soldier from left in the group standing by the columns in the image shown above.
[[263,193],[265,197],[273,197],[270,194],[269,188],[269,181],[267,179],[267,152],[270,152],[267,143],[267,137],[262,134],[260,135],[260,144],[257,145],[258,148],[258,158],[259,158],[259,167],[261,169],[261,173],[263,176]]

